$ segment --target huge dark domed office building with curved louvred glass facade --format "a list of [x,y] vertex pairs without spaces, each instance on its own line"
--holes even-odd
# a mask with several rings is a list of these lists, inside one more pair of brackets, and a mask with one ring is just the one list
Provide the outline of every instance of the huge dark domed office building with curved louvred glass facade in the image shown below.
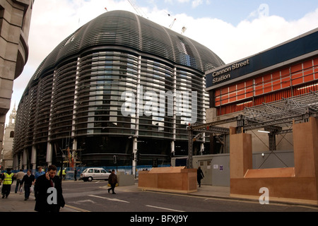
[[[204,123],[204,73],[223,61],[194,40],[110,11],[61,42],[20,100],[15,165],[131,165],[187,155],[187,124]],[[197,148],[201,148],[200,145]],[[136,155],[138,153],[138,155]]]

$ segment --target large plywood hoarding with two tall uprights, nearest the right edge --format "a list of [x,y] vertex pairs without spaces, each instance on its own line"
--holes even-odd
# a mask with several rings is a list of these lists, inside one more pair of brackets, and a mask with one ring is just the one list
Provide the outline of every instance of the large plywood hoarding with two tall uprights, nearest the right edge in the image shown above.
[[[234,131],[234,130],[230,130]],[[252,169],[251,134],[230,134],[230,196],[318,204],[318,120],[293,124],[295,167]]]

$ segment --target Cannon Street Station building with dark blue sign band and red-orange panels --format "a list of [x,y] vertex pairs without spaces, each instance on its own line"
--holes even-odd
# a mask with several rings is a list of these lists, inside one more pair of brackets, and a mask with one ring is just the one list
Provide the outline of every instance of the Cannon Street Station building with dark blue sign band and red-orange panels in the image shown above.
[[254,169],[293,167],[293,123],[318,117],[318,28],[207,71],[206,90],[206,124],[192,126],[193,136],[210,134],[211,155],[193,150],[203,184],[230,186],[230,127],[252,134]]

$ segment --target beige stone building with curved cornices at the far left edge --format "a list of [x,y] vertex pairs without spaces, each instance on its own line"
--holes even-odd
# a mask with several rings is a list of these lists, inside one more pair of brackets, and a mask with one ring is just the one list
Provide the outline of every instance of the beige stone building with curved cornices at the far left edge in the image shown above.
[[0,147],[13,80],[28,60],[28,36],[34,0],[0,0]]

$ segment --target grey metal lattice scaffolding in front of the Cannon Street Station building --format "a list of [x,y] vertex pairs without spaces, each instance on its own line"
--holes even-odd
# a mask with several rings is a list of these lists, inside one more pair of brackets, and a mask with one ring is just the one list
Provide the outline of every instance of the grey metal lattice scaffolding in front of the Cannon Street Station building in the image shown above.
[[248,130],[264,129],[269,132],[269,150],[276,149],[276,135],[291,133],[293,123],[308,121],[318,117],[318,91],[282,98],[281,100],[263,103],[254,107],[245,107],[243,114],[230,119],[213,121],[206,124],[189,124],[188,126],[188,167],[192,165],[193,142],[205,133],[226,135],[228,128],[218,127],[221,124],[237,122],[237,133]]

